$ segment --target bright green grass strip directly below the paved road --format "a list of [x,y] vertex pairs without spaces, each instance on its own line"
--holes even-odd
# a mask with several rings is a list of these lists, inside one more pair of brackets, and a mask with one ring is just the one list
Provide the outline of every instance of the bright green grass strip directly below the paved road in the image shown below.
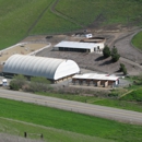
[[120,142],[142,141],[142,126],[120,123],[3,98],[0,98],[0,117],[4,118]]

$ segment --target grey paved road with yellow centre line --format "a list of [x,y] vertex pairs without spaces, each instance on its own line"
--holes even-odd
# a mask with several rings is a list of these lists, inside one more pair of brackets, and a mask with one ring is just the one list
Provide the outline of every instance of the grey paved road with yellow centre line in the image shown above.
[[142,125],[142,113],[104,107],[98,105],[91,105],[72,100],[64,100],[59,98],[39,96],[35,94],[14,92],[8,90],[0,90],[0,97],[22,100],[26,103],[34,103],[38,105],[108,118],[118,121]]

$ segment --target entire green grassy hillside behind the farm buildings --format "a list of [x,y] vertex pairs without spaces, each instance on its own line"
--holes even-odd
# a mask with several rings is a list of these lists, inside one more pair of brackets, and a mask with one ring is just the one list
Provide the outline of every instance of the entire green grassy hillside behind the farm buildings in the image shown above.
[[0,49],[28,35],[66,33],[88,25],[142,25],[141,0],[0,0]]

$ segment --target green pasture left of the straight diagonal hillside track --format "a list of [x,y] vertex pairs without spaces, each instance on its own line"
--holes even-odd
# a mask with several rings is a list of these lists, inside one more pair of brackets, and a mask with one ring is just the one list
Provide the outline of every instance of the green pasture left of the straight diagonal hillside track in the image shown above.
[[16,44],[28,35],[28,29],[51,0],[0,0],[0,49]]

